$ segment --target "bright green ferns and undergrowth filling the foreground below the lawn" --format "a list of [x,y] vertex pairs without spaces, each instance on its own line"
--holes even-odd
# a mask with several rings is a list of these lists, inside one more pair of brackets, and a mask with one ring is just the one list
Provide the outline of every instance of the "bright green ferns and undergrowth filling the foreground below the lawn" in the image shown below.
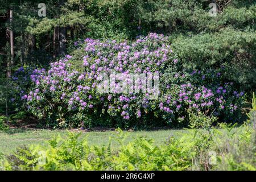
[[191,130],[158,144],[144,137],[125,142],[129,133],[122,130],[116,130],[106,146],[88,144],[92,138],[69,133],[52,138],[45,145],[18,147],[13,154],[2,156],[0,169],[256,170],[256,130],[251,125]]

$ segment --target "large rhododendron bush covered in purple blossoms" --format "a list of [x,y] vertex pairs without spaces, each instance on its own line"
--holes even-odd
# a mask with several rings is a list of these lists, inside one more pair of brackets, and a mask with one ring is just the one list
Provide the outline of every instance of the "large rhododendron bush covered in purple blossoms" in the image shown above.
[[[183,69],[163,35],[151,33],[132,43],[85,39],[75,47],[72,56],[48,69],[20,68],[13,77],[19,90],[13,100],[48,126],[184,126],[188,109],[220,121],[239,118],[243,92],[222,79],[225,68]],[[102,74],[113,72],[128,82],[131,74],[153,75],[152,92],[119,92],[118,79],[105,80],[109,92],[99,92]],[[138,88],[142,85],[141,80]]]

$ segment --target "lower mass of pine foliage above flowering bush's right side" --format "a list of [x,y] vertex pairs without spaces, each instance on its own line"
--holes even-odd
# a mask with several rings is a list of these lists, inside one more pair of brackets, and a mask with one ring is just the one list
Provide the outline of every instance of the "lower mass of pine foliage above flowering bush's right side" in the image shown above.
[[255,32],[222,29],[216,33],[179,36],[172,46],[187,68],[226,67],[224,78],[243,89],[256,88]]

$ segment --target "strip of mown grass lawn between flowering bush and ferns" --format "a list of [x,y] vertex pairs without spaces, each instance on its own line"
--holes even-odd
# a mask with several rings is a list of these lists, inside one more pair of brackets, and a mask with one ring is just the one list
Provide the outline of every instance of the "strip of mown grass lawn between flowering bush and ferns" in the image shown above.
[[[114,131],[90,131],[72,130],[74,132],[82,132],[81,137],[88,136],[89,144],[97,144],[98,146],[108,144],[109,137]],[[169,137],[179,137],[187,130],[157,130],[157,131],[125,131],[129,135],[126,141],[135,137],[143,136],[152,138],[155,144],[164,143]],[[51,139],[56,135],[67,135],[67,130],[27,130],[27,129],[10,129],[0,131],[0,152],[9,154],[16,147],[26,144],[45,144],[45,140]]]

